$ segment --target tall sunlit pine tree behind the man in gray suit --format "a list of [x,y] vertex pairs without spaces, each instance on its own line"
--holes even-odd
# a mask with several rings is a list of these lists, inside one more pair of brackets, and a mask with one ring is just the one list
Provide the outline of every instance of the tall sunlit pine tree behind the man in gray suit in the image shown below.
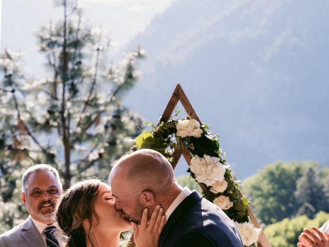
[[76,5],[60,5],[63,20],[38,34],[49,76],[35,80],[23,72],[20,54],[7,49],[1,55],[0,232],[1,224],[12,227],[24,215],[12,207],[21,206],[17,195],[25,168],[56,167],[64,189],[91,175],[106,179],[111,163],[141,130],[141,117],[120,99],[138,79],[135,64],[143,51],[106,62],[110,42],[102,31],[88,28]]

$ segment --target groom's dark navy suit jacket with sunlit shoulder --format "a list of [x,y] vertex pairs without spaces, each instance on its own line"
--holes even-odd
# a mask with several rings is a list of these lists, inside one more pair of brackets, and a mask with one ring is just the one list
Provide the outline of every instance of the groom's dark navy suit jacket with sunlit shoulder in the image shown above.
[[193,190],[170,215],[159,247],[243,247],[239,232],[222,209]]

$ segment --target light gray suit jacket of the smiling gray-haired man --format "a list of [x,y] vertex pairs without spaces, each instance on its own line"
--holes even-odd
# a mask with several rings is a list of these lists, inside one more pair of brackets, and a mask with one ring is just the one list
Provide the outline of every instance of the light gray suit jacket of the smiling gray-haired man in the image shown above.
[[31,220],[27,218],[22,224],[0,235],[0,247],[45,247],[40,233]]

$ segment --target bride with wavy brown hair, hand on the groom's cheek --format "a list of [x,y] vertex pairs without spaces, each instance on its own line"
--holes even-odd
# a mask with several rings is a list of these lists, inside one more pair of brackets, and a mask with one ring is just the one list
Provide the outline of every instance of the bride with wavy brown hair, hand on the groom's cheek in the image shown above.
[[166,217],[156,207],[148,222],[143,210],[141,225],[121,218],[114,206],[111,188],[98,179],[81,181],[58,200],[54,215],[67,240],[66,247],[118,247],[120,234],[134,226],[137,247],[157,247]]

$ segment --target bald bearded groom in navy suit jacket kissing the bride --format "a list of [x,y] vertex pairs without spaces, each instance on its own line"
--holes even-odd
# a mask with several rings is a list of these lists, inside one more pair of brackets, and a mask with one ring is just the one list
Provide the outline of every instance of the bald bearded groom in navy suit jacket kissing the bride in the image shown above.
[[156,205],[165,209],[167,222],[159,247],[239,247],[239,232],[222,209],[187,187],[182,188],[165,156],[142,149],[124,156],[110,178],[115,206],[121,217],[140,223],[142,211]]

